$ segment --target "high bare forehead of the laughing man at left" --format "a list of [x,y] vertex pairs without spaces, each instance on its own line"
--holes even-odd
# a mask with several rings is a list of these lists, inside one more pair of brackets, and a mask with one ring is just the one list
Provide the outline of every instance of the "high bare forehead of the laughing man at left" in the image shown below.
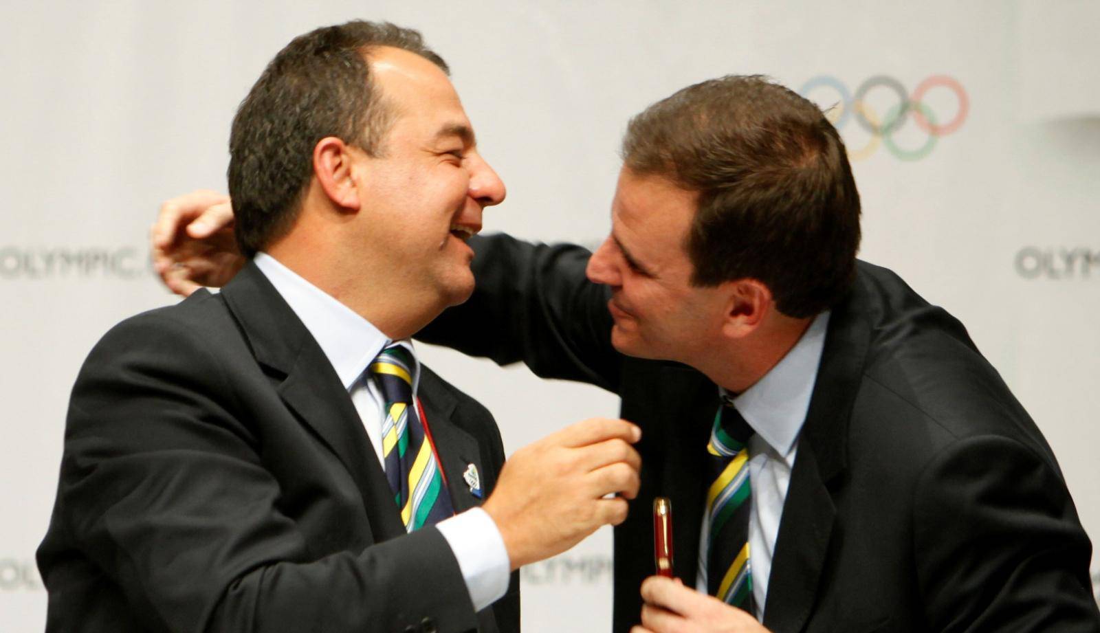
[[469,127],[450,78],[428,59],[400,48],[378,46],[367,53],[367,63],[383,99],[400,119],[431,127]]

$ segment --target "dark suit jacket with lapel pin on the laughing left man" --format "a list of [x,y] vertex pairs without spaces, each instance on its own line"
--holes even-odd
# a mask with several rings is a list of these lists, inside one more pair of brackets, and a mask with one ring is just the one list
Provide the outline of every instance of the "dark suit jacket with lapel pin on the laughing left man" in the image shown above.
[[[425,368],[455,511],[504,462],[492,415]],[[122,322],[77,378],[38,549],[47,631],[518,631],[474,613],[435,528],[406,534],[348,392],[249,265],[220,295]]]

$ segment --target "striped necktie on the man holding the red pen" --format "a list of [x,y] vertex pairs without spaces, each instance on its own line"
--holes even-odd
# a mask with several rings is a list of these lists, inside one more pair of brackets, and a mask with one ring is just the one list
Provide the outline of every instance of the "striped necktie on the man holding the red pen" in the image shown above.
[[711,488],[706,495],[708,545],[706,590],[727,604],[756,615],[752,571],[749,565],[748,442],[752,429],[733,406],[723,404],[714,417],[706,446]]

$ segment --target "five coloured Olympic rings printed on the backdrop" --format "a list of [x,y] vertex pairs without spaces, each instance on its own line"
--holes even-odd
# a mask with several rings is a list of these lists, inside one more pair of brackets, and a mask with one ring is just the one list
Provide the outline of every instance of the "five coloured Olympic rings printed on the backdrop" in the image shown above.
[[[811,93],[815,91],[821,96],[824,88],[835,90],[840,98],[837,107],[829,113],[833,125],[842,130],[849,120],[855,120],[870,134],[870,140],[862,147],[848,149],[848,157],[853,160],[867,158],[881,145],[902,160],[920,160],[935,148],[941,136],[947,136],[958,130],[970,112],[970,100],[963,85],[946,75],[933,75],[926,78],[917,84],[912,95],[905,90],[901,81],[887,75],[868,78],[859,85],[855,95],[849,92],[848,87],[836,77],[820,75],[803,84],[799,95],[810,99]],[[887,110],[884,118],[879,118],[878,112],[868,103],[867,95],[875,88],[886,88],[898,97],[898,102]],[[958,109],[950,121],[941,123],[932,108],[924,102],[925,96],[934,88],[946,88],[955,95]],[[916,148],[902,147],[894,138],[898,130],[910,118],[927,134],[924,143]]]

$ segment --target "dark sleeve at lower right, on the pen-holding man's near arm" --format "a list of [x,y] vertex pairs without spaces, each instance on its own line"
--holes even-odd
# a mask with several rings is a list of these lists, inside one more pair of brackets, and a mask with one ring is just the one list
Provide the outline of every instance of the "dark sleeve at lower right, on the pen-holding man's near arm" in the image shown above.
[[1100,632],[1090,544],[1054,466],[1005,437],[944,451],[914,503],[930,631]]

